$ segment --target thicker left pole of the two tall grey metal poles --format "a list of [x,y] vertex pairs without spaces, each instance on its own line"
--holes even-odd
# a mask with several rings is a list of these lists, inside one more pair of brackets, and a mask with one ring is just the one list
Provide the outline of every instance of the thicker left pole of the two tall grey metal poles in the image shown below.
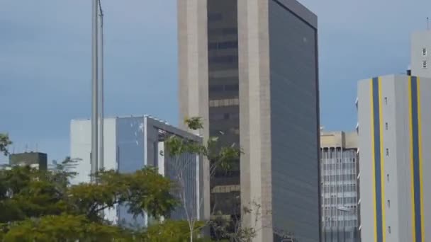
[[98,16],[98,11],[99,11],[99,0],[93,0],[93,8],[92,8],[92,38],[91,38],[91,43],[92,43],[92,52],[91,52],[91,59],[92,59],[92,63],[91,63],[91,76],[92,76],[92,90],[91,90],[91,174],[96,173],[96,171],[98,171],[98,167],[97,167],[97,163],[98,163],[98,139],[99,139],[99,135],[98,135],[98,129],[99,129],[99,125],[98,125],[98,116],[99,116],[99,112],[98,112],[98,105],[99,105],[99,99],[98,99],[98,75],[97,75],[97,68],[98,68],[98,64],[97,64],[97,58],[98,58],[98,54],[97,54],[97,29],[98,29],[98,21],[97,21],[97,16]]

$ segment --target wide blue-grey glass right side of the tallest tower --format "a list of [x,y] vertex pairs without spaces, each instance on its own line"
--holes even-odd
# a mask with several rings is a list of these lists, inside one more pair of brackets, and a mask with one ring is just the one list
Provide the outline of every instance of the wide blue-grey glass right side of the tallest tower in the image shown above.
[[319,241],[317,30],[276,0],[269,57],[274,241]]

